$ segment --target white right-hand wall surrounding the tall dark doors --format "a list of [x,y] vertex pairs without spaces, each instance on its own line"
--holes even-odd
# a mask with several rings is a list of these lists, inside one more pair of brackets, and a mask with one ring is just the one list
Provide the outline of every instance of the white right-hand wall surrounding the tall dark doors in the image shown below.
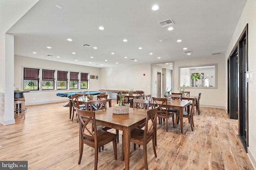
[[[234,31],[230,44],[226,51],[225,60],[227,61],[236,41],[240,37],[244,27],[248,23],[248,71],[253,72],[254,78],[256,77],[256,0],[247,0],[246,6],[242,12],[238,25]],[[227,82],[225,84],[227,86]],[[225,93],[227,94],[227,93]],[[256,96],[256,80],[248,83],[248,156],[256,168],[256,114],[255,114],[255,99]]]

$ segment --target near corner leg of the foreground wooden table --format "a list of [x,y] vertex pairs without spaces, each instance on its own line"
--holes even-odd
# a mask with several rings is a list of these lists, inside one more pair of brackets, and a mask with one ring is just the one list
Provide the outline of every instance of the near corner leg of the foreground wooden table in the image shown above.
[[130,142],[131,142],[131,129],[124,128],[123,130],[123,142],[124,142],[124,164],[125,170],[129,169],[130,163]]

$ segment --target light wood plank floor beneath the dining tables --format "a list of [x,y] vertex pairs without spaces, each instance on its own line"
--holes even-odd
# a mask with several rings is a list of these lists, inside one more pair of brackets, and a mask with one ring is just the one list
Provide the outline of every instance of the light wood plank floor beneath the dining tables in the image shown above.
[[[16,124],[0,125],[0,160],[28,160],[30,170],[94,169],[94,149],[86,145],[78,165],[77,117],[71,121],[64,104],[26,106],[26,119],[16,116]],[[150,170],[253,170],[237,136],[238,121],[229,119],[224,109],[201,107],[194,124],[191,131],[185,119],[184,134],[180,134],[180,126],[172,127],[171,119],[168,132],[165,123],[158,125],[157,158],[152,143],[147,145]],[[130,169],[144,169],[143,147],[134,151],[130,146]],[[124,169],[121,147],[120,142],[118,160],[114,160],[112,143],[105,145],[99,153],[98,170]]]

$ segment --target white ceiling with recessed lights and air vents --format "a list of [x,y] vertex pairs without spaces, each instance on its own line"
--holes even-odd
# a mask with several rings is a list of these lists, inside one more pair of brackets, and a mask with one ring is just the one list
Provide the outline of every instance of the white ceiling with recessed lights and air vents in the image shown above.
[[[154,4],[159,10],[151,9]],[[165,63],[225,54],[245,4],[246,0],[40,0],[7,33],[14,35],[18,56],[99,68]],[[158,23],[169,18],[175,23],[172,31]],[[82,46],[86,43],[98,49]]]

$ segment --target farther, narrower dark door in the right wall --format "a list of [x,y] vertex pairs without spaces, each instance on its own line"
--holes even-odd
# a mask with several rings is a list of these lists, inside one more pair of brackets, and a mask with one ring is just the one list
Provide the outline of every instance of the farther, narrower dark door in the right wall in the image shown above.
[[230,119],[238,119],[238,47],[230,56],[230,102],[229,116]]

